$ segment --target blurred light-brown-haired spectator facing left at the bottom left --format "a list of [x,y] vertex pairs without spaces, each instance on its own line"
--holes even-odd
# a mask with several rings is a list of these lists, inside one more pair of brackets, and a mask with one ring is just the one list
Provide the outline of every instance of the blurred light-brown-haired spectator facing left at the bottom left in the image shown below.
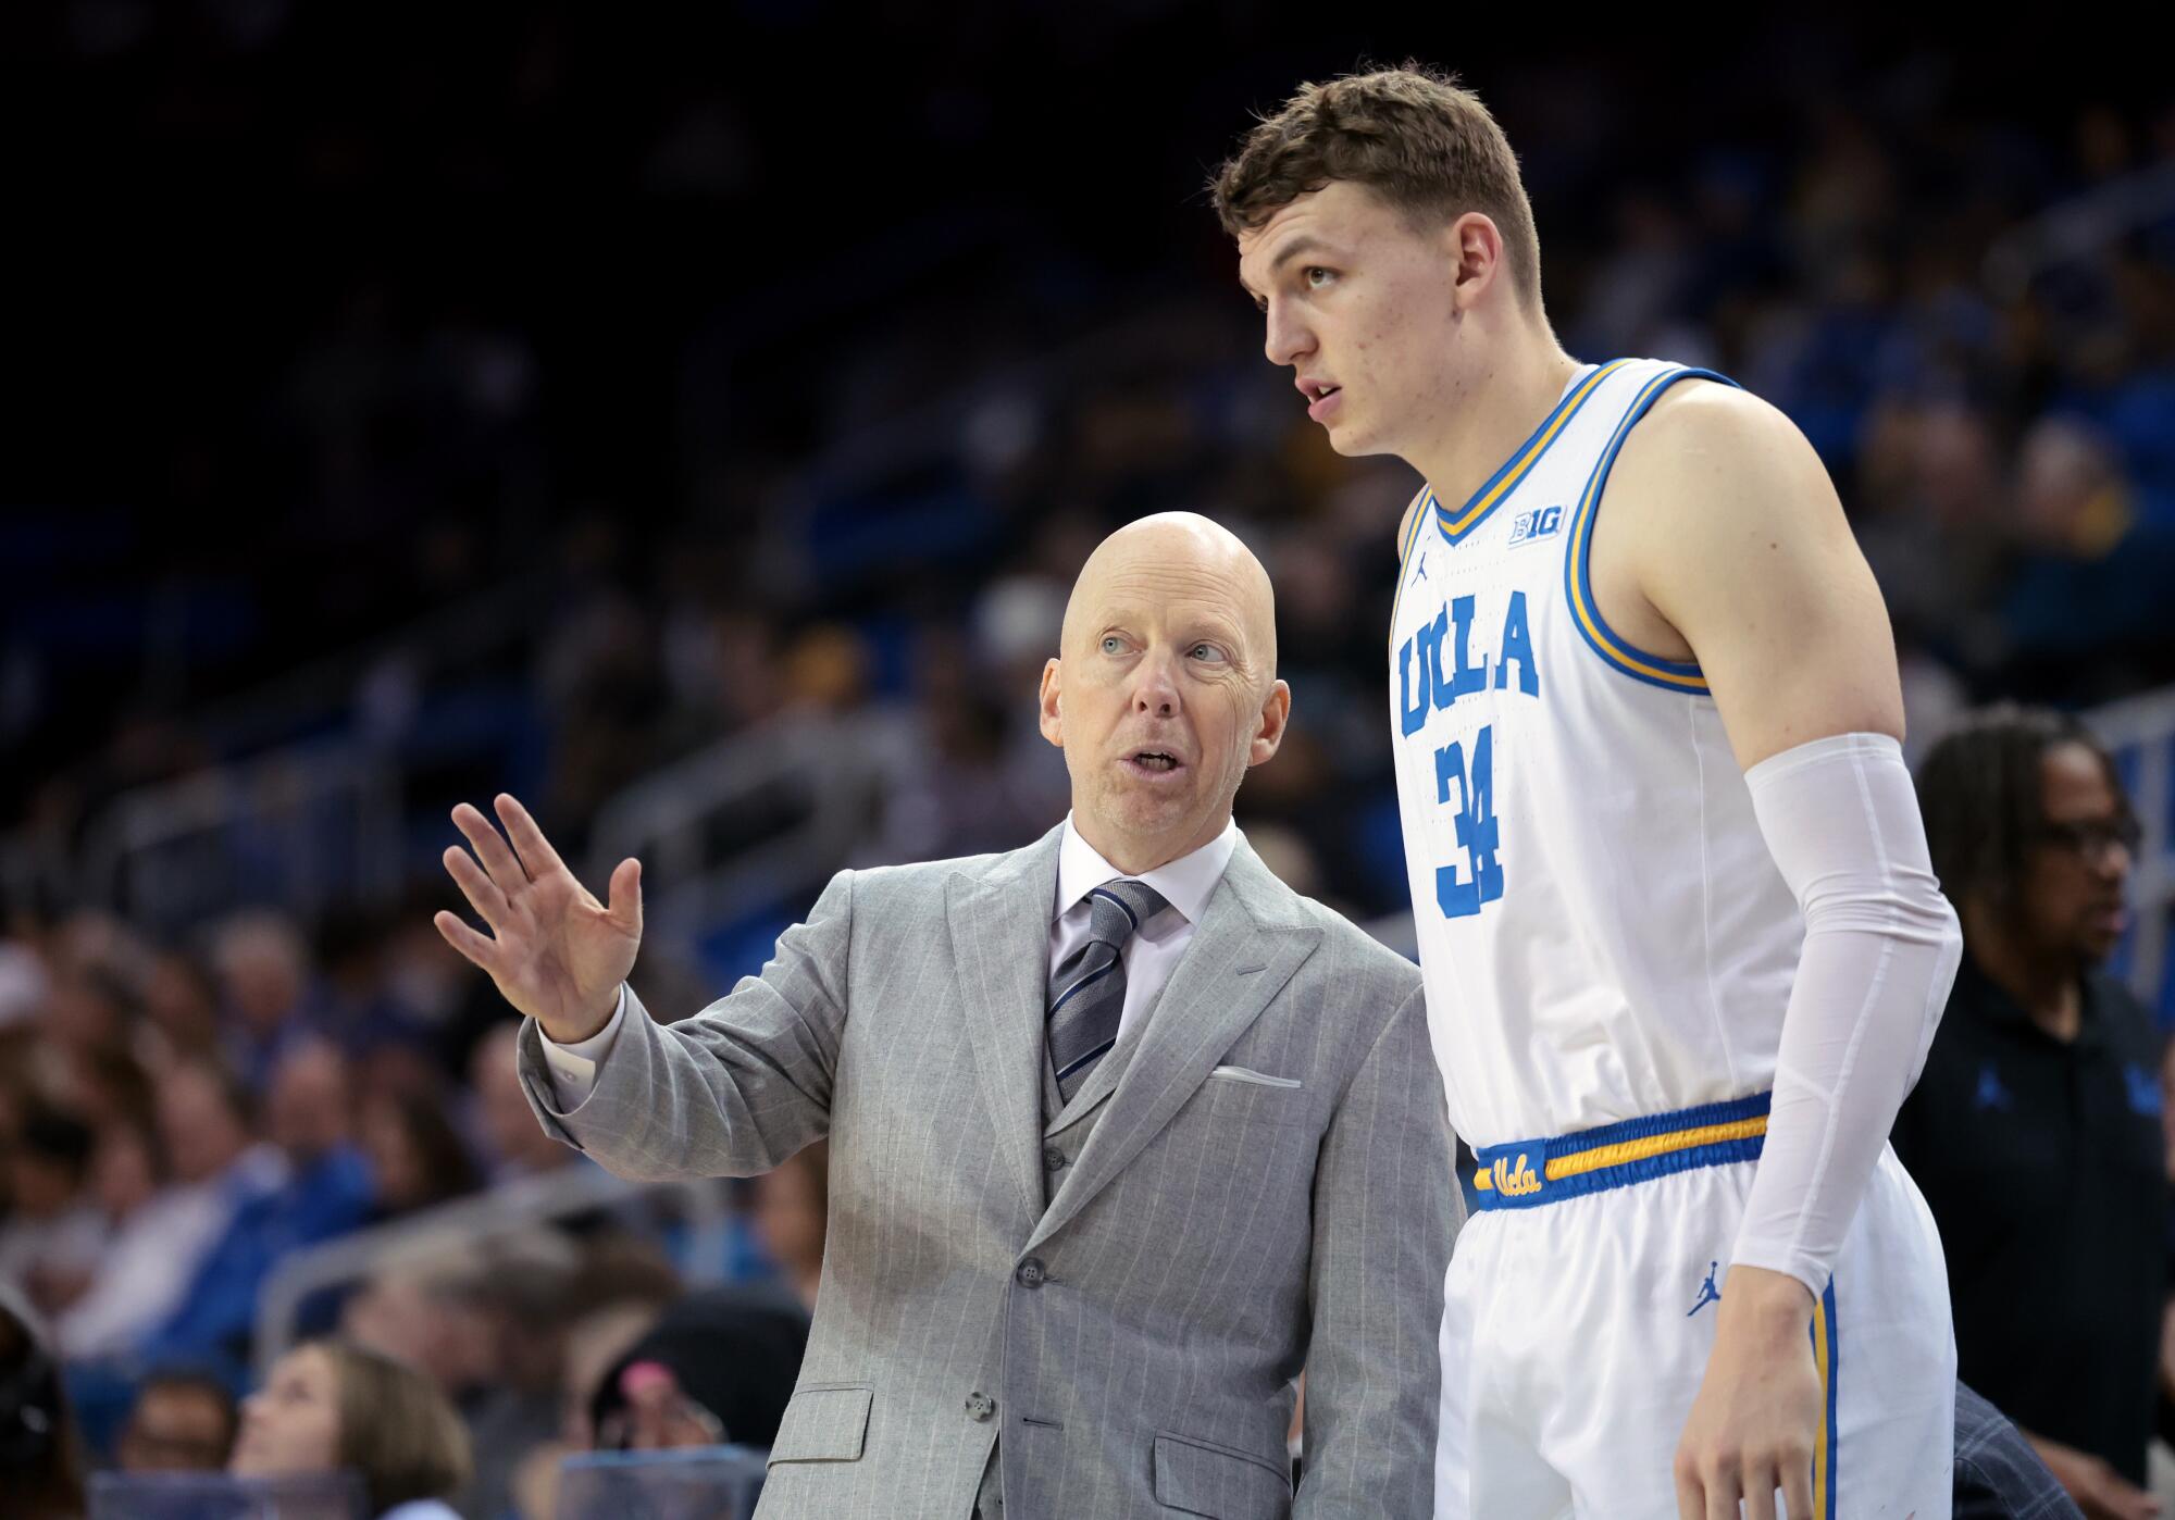
[[307,1342],[241,1405],[228,1472],[359,1472],[378,1520],[459,1520],[444,1503],[468,1481],[468,1431],[433,1383],[341,1342]]

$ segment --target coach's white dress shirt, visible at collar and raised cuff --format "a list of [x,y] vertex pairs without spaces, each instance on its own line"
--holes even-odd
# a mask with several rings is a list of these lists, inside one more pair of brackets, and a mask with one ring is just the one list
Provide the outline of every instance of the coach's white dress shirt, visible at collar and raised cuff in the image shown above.
[[[1124,1035],[1140,1009],[1155,1000],[1164,983],[1170,981],[1179,955],[1185,952],[1185,946],[1194,937],[1194,924],[1201,922],[1216,883],[1222,881],[1225,868],[1231,863],[1231,850],[1238,848],[1238,824],[1227,820],[1222,833],[1192,855],[1181,855],[1168,865],[1157,865],[1151,872],[1133,876],[1133,881],[1155,887],[1170,907],[1155,913],[1124,942],[1124,1007],[1118,1011],[1120,1035]],[[1088,894],[1105,881],[1122,876],[1122,870],[1105,861],[1092,844],[1081,839],[1072,826],[1072,815],[1066,813],[1066,833],[1057,846],[1057,918],[1051,922],[1046,979],[1055,976],[1066,957],[1088,939],[1088,929],[1094,922]],[[550,1035],[537,1031],[544,1039],[544,1066],[550,1070],[552,1096],[563,1111],[579,1107],[589,1096],[589,1089],[596,1087],[596,1063],[611,1052],[624,1016],[626,987],[622,985],[620,1007],[611,1011],[611,1022],[587,1039],[561,1046]]]

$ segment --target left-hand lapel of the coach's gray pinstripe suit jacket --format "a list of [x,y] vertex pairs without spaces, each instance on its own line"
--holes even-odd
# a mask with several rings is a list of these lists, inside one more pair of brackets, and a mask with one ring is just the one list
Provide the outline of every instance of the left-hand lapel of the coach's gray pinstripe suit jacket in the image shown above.
[[1048,996],[1051,907],[1061,826],[1005,855],[983,876],[946,887],[968,1044],[990,1105],[994,1144],[1027,1216],[1042,1213],[1042,1005]]

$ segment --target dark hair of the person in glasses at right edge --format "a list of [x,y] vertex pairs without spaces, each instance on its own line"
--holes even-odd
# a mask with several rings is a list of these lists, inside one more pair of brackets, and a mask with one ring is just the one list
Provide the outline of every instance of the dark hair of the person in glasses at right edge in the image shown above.
[[2081,744],[2123,796],[2105,746],[2068,713],[1997,702],[1966,718],[1918,763],[1918,811],[1940,889],[2008,909],[2047,824],[2047,752]]

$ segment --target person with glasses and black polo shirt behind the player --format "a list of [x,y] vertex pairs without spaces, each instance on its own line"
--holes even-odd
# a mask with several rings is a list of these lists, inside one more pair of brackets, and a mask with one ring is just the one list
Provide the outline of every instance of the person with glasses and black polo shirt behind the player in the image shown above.
[[2023,707],[1936,744],[1918,805],[1964,963],[1894,1148],[1940,1224],[1957,1376],[2086,1516],[2155,1516],[2162,1042],[2103,970],[2127,926],[2136,813],[2084,724]]

